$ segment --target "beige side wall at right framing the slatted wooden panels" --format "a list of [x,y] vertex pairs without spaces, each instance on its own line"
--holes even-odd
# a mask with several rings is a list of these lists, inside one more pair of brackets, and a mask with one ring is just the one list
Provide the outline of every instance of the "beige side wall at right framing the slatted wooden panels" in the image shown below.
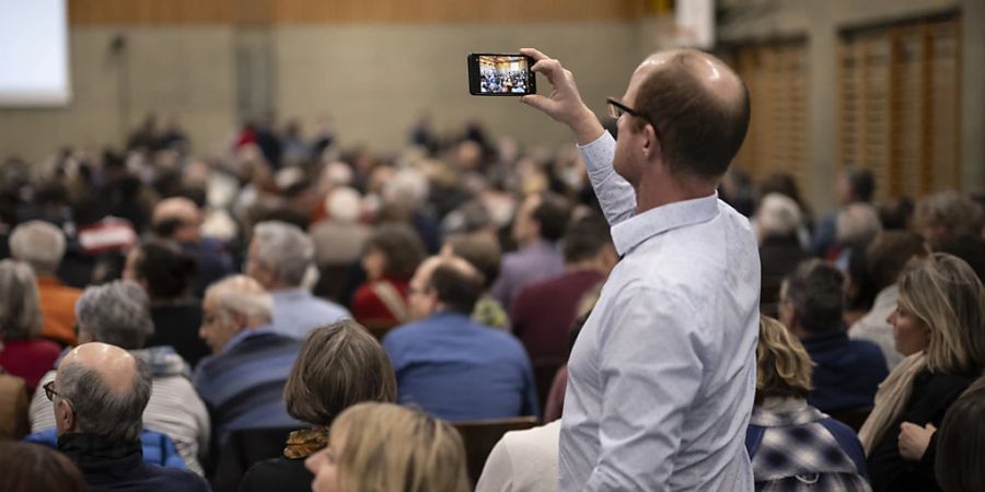
[[807,192],[815,210],[834,204],[837,159],[836,108],[838,30],[859,24],[960,9],[961,51],[961,173],[962,187],[985,190],[985,2],[981,0],[772,0],[739,1],[719,26],[719,39],[769,39],[806,35],[811,89],[811,187]]

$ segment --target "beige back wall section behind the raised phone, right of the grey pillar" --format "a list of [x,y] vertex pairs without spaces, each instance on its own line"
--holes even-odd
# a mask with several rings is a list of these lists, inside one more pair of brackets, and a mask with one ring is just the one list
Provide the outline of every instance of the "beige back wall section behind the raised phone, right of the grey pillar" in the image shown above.
[[[422,110],[439,129],[476,119],[493,136],[568,142],[560,125],[514,97],[468,95],[466,55],[540,47],[577,74],[601,115],[605,97],[622,95],[640,59],[636,37],[627,23],[278,27],[276,101],[282,116],[310,122],[333,115],[344,144],[399,148]],[[537,83],[548,90],[543,78]]]

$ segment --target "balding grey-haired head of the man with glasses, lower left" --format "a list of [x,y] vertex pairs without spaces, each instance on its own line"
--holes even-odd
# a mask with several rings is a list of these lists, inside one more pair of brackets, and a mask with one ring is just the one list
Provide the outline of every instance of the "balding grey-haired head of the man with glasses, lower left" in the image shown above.
[[147,366],[126,350],[92,342],[70,351],[58,365],[54,398],[56,430],[112,441],[140,438],[150,399]]

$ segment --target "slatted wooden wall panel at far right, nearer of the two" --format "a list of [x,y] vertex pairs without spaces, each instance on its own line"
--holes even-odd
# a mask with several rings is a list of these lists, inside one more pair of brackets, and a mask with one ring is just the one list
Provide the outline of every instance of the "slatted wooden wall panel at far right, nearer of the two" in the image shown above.
[[959,187],[959,39],[957,15],[842,33],[838,164],[871,169],[879,198]]

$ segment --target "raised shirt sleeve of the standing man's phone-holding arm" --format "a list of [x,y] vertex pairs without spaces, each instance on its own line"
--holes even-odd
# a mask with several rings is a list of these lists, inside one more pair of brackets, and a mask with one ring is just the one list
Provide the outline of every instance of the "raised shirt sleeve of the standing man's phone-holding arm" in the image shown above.
[[603,131],[602,137],[594,142],[578,145],[609,225],[629,219],[636,211],[636,191],[633,185],[612,167],[615,147],[615,139],[607,131]]

